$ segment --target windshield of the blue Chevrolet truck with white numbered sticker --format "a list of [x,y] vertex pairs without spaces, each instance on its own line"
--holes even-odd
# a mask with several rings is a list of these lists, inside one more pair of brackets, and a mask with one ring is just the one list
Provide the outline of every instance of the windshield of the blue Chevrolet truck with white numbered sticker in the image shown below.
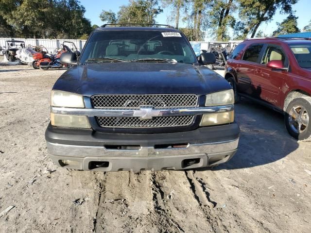
[[197,63],[181,33],[142,30],[93,33],[80,63],[122,61]]

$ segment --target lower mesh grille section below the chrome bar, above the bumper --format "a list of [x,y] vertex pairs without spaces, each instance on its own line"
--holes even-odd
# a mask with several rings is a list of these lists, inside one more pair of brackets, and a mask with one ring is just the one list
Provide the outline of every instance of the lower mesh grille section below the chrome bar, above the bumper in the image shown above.
[[139,117],[104,117],[97,116],[97,122],[104,128],[160,128],[189,126],[194,116],[157,116],[152,119]]

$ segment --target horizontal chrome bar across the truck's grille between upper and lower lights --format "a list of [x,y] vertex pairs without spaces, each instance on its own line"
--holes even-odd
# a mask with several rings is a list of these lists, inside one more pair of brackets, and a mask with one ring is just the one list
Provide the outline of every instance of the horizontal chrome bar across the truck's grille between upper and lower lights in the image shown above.
[[[198,108],[180,108],[180,109],[152,109],[148,112],[148,116],[183,116],[183,115],[202,115],[206,113],[222,113],[234,110],[234,105],[198,107]],[[143,110],[129,110],[129,109],[93,109],[93,108],[65,108],[65,107],[51,107],[51,113],[61,115],[75,115],[75,116],[111,116],[111,117],[137,117],[143,116]]]

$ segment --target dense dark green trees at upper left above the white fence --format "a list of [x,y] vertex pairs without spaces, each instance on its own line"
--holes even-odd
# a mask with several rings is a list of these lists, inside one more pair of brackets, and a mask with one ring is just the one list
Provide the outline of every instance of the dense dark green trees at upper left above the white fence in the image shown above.
[[5,25],[14,29],[14,36],[78,38],[92,31],[90,21],[84,17],[85,11],[78,0],[0,2],[0,17],[5,21]]

